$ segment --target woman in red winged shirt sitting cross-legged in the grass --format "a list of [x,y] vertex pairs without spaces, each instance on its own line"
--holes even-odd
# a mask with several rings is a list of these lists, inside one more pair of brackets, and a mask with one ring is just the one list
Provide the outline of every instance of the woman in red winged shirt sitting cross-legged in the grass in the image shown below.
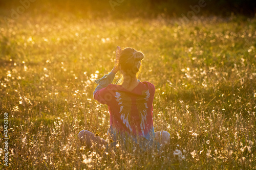
[[[150,82],[137,79],[144,55],[134,48],[121,50],[117,46],[114,68],[108,75],[95,82],[99,84],[93,92],[94,99],[109,106],[109,136],[115,142],[132,139],[140,147],[169,142],[170,134],[166,131],[154,132],[153,100],[155,86]],[[120,70],[123,76],[121,85],[111,84]],[[88,148],[92,144],[106,145],[108,142],[92,132],[82,130],[78,138]]]

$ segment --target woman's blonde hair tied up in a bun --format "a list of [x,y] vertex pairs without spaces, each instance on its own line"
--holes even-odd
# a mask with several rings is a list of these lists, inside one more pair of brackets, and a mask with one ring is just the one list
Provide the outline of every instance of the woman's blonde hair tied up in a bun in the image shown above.
[[136,75],[140,71],[141,60],[144,54],[136,51],[134,48],[124,48],[120,54],[120,69],[128,75]]

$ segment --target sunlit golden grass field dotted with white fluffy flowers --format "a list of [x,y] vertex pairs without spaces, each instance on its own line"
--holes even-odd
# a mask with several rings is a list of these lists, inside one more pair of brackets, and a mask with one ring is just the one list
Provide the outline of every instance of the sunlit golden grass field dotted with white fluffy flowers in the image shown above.
[[[1,169],[256,169],[255,17],[3,16]],[[112,69],[117,45],[145,54],[139,79],[156,86],[155,131],[171,136],[160,151],[105,153],[77,139],[82,129],[106,137],[94,80]]]

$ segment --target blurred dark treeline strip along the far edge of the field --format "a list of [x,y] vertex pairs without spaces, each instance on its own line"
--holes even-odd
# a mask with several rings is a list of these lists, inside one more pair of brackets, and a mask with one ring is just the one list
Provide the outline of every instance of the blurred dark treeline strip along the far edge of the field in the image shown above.
[[[113,16],[113,17],[154,17],[246,15],[255,16],[255,0],[0,0],[0,8],[10,10],[20,5],[34,6],[28,8],[34,12],[59,14],[68,12],[76,15]],[[0,11],[1,12],[1,11]],[[3,12],[3,11],[2,11]]]

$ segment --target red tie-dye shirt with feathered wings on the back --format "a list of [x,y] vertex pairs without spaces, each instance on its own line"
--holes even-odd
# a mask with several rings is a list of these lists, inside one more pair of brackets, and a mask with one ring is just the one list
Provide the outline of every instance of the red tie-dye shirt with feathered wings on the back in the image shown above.
[[155,86],[150,82],[139,82],[131,91],[121,85],[111,84],[115,74],[103,76],[95,82],[94,99],[109,106],[110,132],[128,133],[153,141],[153,100]]

